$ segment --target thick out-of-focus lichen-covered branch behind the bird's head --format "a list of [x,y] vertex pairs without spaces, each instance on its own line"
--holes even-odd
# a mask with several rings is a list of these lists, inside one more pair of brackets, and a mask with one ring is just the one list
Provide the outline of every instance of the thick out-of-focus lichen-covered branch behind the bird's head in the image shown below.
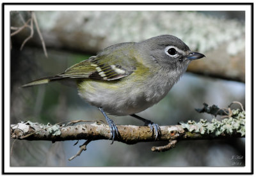
[[[172,22],[162,20],[166,16],[172,17]],[[243,15],[240,16],[243,19]],[[239,20],[209,18],[198,12],[113,12],[110,20],[109,12],[56,11],[32,12],[31,18],[40,36],[40,40],[32,38],[31,42],[43,46],[45,56],[47,52],[44,43],[47,43],[49,49],[62,48],[95,54],[115,43],[139,42],[153,36],[169,34],[179,37],[191,50],[206,56],[191,62],[188,72],[245,81],[245,32],[244,23]],[[120,20],[122,18],[126,20]],[[197,20],[193,20],[194,18]],[[15,20],[17,19],[13,19]],[[152,20],[157,23],[152,23]],[[127,26],[132,26],[132,30],[127,30]],[[23,37],[19,40],[23,40]]]

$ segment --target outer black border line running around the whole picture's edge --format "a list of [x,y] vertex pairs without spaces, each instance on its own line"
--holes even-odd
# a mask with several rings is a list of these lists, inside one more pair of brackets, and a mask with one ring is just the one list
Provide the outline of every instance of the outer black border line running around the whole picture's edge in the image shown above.
[[[250,5],[252,25],[252,171],[250,173],[6,173],[4,172],[4,6],[5,5]],[[2,3],[2,173],[1,174],[253,174],[253,3]]]

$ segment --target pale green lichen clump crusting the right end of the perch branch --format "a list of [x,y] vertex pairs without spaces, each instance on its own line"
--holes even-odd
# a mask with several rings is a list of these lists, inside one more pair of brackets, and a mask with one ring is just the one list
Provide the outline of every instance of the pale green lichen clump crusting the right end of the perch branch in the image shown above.
[[211,122],[206,119],[200,119],[199,122],[188,121],[188,123],[181,122],[180,124],[182,128],[187,129],[189,132],[209,134],[214,137],[221,134],[232,135],[237,132],[243,137],[245,135],[245,112],[236,109],[231,110],[230,116],[221,121],[215,118]]

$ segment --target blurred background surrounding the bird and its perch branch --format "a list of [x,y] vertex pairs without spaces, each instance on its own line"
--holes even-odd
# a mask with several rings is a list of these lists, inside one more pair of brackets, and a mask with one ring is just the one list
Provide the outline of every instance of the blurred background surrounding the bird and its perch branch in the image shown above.
[[[168,95],[139,116],[159,125],[177,125],[189,119],[211,121],[211,115],[195,111],[204,102],[220,108],[233,101],[244,105],[244,12],[11,12],[10,15],[11,33],[26,22],[31,26],[29,19],[33,20],[33,36],[31,29],[24,27],[10,38],[11,124],[28,120],[45,124],[77,119],[105,121],[96,107],[79,98],[76,88],[58,82],[32,88],[20,86],[64,72],[109,45],[139,42],[157,35],[177,36],[206,58],[192,61],[188,72]],[[32,37],[24,44],[29,35]],[[109,117],[120,125],[143,125],[131,116]],[[127,145],[100,140],[90,142],[86,151],[68,161],[84,141],[73,146],[75,142],[13,144],[11,139],[11,166],[234,166],[232,156],[245,155],[245,138],[180,141],[176,148],[162,153],[150,148],[167,142]],[[243,166],[244,158],[239,162]]]

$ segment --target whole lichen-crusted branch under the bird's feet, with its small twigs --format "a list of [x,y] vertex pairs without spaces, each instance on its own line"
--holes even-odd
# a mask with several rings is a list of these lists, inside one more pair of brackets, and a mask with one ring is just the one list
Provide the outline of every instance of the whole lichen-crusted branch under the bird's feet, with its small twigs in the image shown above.
[[[236,102],[233,102],[236,103]],[[230,137],[245,137],[245,112],[239,109],[223,109],[216,105],[208,107],[204,104],[202,109],[196,109],[198,112],[207,112],[209,114],[225,114],[221,121],[213,118],[211,122],[206,119],[200,119],[199,122],[188,121],[180,122],[180,125],[160,126],[161,134],[155,140],[154,131],[149,127],[134,125],[117,125],[119,135],[115,141],[125,144],[135,144],[137,142],[169,141],[166,146],[152,147],[152,151],[166,151],[175,147],[180,140],[186,139],[223,139]],[[218,111],[219,110],[219,111]],[[72,160],[86,150],[86,145],[94,140],[109,139],[111,137],[109,126],[102,121],[93,121],[79,125],[70,125],[79,123],[72,121],[67,125],[43,125],[32,123],[31,121],[20,122],[11,125],[11,138],[20,140],[44,140],[44,141],[69,141],[86,139],[76,155],[69,158]],[[76,144],[75,144],[76,145]]]

